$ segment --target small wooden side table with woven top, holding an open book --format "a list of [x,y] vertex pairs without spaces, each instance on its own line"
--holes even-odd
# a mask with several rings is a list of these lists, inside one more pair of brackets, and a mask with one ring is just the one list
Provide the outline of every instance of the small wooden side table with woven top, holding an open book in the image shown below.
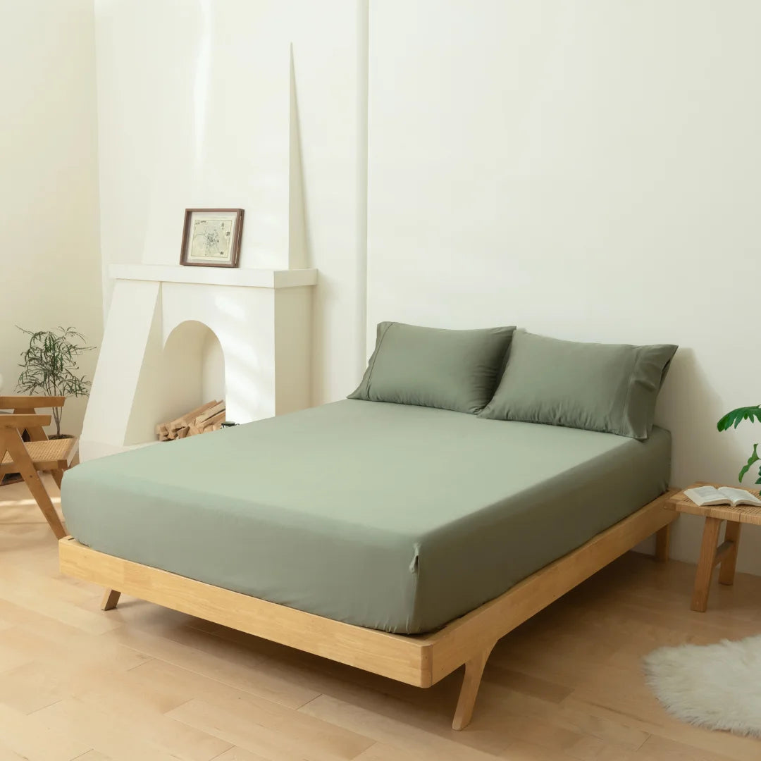
[[[693,484],[706,486],[705,483]],[[712,486],[721,486],[713,484]],[[751,494],[759,495],[757,489],[747,489]],[[761,526],[761,507],[756,505],[712,505],[700,507],[696,505],[684,492],[679,492],[667,501],[666,507],[680,513],[689,515],[702,515],[705,517],[703,528],[703,540],[700,547],[700,560],[698,572],[695,576],[695,590],[693,591],[692,610],[705,613],[708,607],[708,591],[711,587],[711,578],[714,568],[721,563],[718,574],[719,584],[731,585],[734,583],[734,568],[737,565],[737,549],[740,546],[740,528],[743,523]],[[718,534],[721,522],[727,521],[724,531],[724,541],[717,546]]]

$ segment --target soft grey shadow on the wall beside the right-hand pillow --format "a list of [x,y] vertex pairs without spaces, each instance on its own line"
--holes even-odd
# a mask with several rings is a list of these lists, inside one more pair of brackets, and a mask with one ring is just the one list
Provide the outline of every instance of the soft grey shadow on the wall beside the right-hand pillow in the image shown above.
[[673,436],[673,486],[688,486],[698,480],[737,482],[749,447],[742,435],[716,430],[716,422],[728,412],[725,408],[693,349],[679,349],[658,400],[657,414]]

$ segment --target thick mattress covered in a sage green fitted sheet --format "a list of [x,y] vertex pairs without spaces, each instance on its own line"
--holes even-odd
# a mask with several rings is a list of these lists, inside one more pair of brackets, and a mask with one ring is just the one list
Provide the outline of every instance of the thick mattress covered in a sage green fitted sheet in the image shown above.
[[65,473],[77,540],[331,619],[427,632],[667,487],[648,441],[345,400]]

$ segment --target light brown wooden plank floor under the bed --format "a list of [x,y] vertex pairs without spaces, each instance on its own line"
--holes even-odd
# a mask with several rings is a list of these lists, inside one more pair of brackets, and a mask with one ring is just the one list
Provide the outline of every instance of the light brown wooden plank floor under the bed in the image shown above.
[[[50,482],[51,493],[55,486]],[[461,672],[428,690],[62,578],[24,486],[0,488],[0,761],[719,761],[761,742],[673,720],[639,661],[761,631],[761,578],[715,586],[630,553],[508,635],[473,724]]]

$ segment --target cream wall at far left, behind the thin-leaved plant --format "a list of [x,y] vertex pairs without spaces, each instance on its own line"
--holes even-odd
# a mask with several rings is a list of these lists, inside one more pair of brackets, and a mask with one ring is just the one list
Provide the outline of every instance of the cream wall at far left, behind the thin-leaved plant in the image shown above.
[[[100,343],[94,14],[91,0],[3,0],[0,46],[0,374],[14,393],[28,330]],[[82,357],[92,378],[97,352]],[[84,400],[62,428],[78,434]]]

